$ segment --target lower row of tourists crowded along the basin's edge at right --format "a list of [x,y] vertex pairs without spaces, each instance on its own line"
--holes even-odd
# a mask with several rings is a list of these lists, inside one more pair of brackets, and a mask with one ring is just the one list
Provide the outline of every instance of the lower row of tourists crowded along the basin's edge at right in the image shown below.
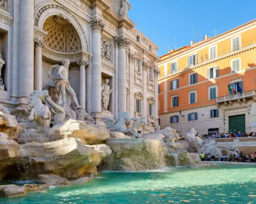
[[[222,154],[221,157],[219,155],[210,155],[210,154],[203,154],[201,152],[200,155],[201,161],[220,161],[222,162],[256,162],[256,152],[253,152],[251,155],[246,157],[242,151],[236,151],[236,154],[230,154],[229,157],[227,155]],[[255,159],[254,159],[255,158]]]

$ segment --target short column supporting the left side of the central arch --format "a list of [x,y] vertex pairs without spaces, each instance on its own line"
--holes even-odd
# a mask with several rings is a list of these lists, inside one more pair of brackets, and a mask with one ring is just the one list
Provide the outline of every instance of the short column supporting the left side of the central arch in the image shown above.
[[34,90],[42,90],[42,47],[45,43],[39,39],[35,42],[35,74],[34,74]]

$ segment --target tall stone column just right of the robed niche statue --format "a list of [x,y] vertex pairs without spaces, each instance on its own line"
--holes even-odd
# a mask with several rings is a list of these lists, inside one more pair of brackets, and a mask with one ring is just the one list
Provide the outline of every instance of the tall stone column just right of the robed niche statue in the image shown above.
[[116,38],[118,44],[118,113],[126,111],[126,49],[127,38]]

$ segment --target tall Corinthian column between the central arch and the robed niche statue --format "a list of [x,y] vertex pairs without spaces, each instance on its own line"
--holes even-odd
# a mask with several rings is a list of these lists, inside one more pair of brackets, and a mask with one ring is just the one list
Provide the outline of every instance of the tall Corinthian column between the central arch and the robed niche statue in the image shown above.
[[92,26],[92,113],[101,113],[101,32],[104,24],[98,18]]

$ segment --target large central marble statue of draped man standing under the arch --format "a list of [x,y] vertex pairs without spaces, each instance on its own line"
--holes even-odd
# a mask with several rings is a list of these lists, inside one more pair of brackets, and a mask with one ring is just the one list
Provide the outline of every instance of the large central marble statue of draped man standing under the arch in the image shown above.
[[77,109],[82,108],[78,104],[75,91],[70,86],[69,78],[69,60],[62,61],[62,65],[54,65],[49,70],[49,78],[55,81],[55,88],[58,92],[57,104],[62,104],[63,107],[70,107],[71,99],[75,103]]

